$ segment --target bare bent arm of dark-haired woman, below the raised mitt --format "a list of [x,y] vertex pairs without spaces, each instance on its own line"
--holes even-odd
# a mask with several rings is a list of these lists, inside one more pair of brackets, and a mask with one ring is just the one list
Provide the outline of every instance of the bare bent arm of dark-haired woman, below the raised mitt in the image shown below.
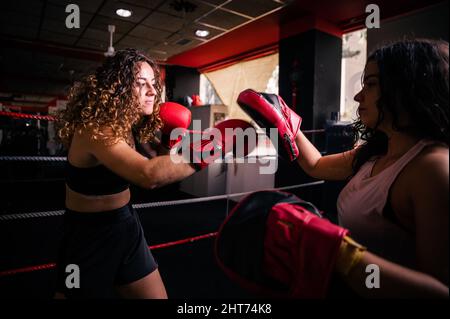
[[297,163],[311,177],[324,180],[346,180],[352,175],[352,162],[357,149],[322,156],[317,148],[299,131],[295,142],[300,151]]

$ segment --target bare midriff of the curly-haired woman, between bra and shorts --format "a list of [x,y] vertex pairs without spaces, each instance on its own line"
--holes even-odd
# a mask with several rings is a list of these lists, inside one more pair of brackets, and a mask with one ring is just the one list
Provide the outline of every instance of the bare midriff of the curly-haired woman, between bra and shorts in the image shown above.
[[88,196],[77,193],[66,185],[66,207],[82,213],[96,213],[117,209],[130,201],[130,190],[112,195]]

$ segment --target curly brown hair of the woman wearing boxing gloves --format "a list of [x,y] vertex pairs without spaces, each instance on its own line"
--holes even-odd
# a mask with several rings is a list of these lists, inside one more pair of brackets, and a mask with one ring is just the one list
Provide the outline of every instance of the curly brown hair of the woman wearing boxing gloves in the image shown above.
[[[155,103],[149,116],[141,115],[133,86],[141,63],[147,62],[155,74]],[[95,74],[76,83],[69,93],[65,110],[57,114],[57,132],[61,142],[69,147],[75,132],[88,130],[92,139],[112,145],[125,140],[129,145],[134,132],[141,143],[155,139],[162,126],[159,117],[162,84],[157,64],[135,49],[117,51],[108,57]],[[107,133],[105,133],[107,132]]]

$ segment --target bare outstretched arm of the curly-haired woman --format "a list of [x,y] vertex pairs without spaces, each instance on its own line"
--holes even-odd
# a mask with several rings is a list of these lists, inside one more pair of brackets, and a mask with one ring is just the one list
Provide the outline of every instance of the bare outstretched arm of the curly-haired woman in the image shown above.
[[136,152],[125,141],[106,146],[100,141],[89,141],[89,150],[103,165],[133,184],[153,189],[171,184],[195,173],[180,155],[163,155],[148,159]]

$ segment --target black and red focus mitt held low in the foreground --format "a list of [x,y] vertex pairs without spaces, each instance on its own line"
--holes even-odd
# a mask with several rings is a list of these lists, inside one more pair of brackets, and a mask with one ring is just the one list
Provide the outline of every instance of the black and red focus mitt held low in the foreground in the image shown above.
[[347,234],[295,195],[259,191],[242,199],[222,224],[215,255],[231,279],[255,293],[324,298],[338,256],[348,267],[356,261],[347,253],[353,250],[342,251]]

